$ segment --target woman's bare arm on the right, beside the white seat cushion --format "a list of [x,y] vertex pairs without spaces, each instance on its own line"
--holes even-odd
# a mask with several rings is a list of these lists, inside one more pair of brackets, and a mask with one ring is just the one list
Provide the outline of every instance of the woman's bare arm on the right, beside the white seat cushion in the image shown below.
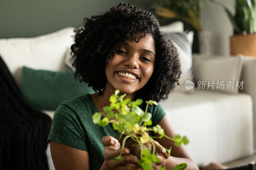
[[[164,134],[166,136],[169,136],[171,138],[174,137],[174,135],[176,134],[175,130],[173,129],[172,125],[169,123],[169,120],[166,115],[158,124],[162,127],[162,129],[164,129]],[[158,137],[159,134],[154,133],[153,131],[152,136]],[[188,164],[186,170],[189,170],[189,169],[198,170],[196,163],[188,155],[188,152],[183,144],[180,145],[179,147],[175,146],[174,142],[171,141],[170,139],[167,139],[166,137],[163,137],[161,139],[157,138],[155,140],[167,149],[172,147],[171,156],[168,159],[166,159],[166,169],[173,169],[178,164],[186,163]]]

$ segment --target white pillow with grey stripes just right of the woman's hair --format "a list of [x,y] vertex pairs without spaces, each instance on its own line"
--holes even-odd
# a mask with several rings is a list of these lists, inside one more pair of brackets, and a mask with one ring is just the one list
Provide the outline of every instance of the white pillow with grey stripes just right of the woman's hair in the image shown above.
[[174,88],[174,92],[194,92],[194,88],[186,89],[185,87],[185,83],[187,80],[193,83],[192,43],[194,32],[185,31],[182,33],[167,33],[167,36],[171,39],[173,45],[177,48],[182,71],[179,79],[180,85]]

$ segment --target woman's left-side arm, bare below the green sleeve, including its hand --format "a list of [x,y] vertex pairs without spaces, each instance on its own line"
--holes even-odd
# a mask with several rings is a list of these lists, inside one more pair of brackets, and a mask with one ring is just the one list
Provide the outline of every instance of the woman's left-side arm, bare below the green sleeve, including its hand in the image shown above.
[[[110,170],[110,169],[129,169],[129,170],[138,170],[140,169],[136,166],[138,159],[134,155],[129,154],[127,148],[124,149],[123,159],[122,160],[113,160],[114,157],[118,156],[121,152],[120,146],[117,144],[117,139],[114,137],[112,141],[114,144],[111,144],[111,141],[105,142],[102,138],[102,143],[104,144],[104,157],[105,160],[101,166],[101,170]],[[86,151],[73,148],[71,146],[61,144],[59,142],[50,141],[50,148],[52,154],[52,161],[56,170],[89,170],[89,154]],[[135,158],[136,157],[136,158]],[[108,165],[111,166],[108,166]]]

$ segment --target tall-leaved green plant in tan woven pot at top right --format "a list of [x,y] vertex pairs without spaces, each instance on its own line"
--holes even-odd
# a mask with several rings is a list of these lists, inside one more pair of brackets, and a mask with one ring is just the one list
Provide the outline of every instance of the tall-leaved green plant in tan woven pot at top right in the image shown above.
[[230,54],[256,56],[255,33],[255,0],[236,0],[236,12],[232,15],[226,6],[211,0],[224,8],[234,28],[234,35],[230,37]]

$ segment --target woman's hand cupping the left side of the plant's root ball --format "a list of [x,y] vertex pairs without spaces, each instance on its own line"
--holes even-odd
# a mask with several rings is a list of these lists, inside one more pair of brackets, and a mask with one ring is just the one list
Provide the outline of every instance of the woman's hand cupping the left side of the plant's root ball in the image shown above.
[[114,158],[117,157],[122,150],[116,138],[111,136],[104,136],[101,142],[104,145],[105,161],[108,163],[108,166],[111,167],[111,169],[142,170],[137,164],[137,156],[129,154],[130,151],[128,148],[124,148],[121,160],[114,160]]

